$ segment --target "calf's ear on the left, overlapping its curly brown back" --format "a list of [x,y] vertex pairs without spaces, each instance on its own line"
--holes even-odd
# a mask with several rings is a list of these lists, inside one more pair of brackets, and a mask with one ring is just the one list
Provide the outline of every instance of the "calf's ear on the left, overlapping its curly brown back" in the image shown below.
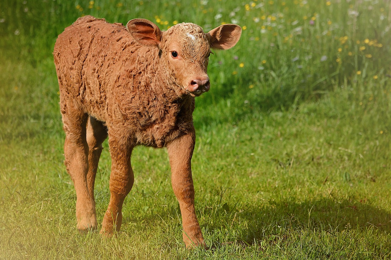
[[159,45],[161,30],[147,19],[133,19],[127,22],[127,30],[136,41],[146,45]]

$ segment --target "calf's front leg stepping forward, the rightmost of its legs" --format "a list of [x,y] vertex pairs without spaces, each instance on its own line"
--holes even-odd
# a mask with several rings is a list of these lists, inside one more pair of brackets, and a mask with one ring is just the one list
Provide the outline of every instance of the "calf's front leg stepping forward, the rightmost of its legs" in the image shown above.
[[181,208],[183,241],[187,248],[205,246],[194,207],[194,186],[191,159],[195,144],[194,132],[182,135],[167,145],[171,166],[171,182]]

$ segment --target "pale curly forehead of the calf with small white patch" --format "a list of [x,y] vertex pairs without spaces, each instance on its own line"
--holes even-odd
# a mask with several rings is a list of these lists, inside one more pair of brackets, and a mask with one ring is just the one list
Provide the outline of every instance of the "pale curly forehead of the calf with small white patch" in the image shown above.
[[[169,42],[168,42],[169,41]],[[178,23],[163,33],[162,47],[175,41],[185,57],[201,58],[210,50],[208,36],[194,23]],[[167,50],[170,51],[170,50]],[[201,55],[197,57],[198,55]]]

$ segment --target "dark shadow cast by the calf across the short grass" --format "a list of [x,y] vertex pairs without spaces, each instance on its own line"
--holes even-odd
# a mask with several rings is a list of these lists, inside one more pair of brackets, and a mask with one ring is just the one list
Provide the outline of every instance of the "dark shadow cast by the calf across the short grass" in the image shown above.
[[[335,201],[324,198],[317,201],[271,203],[272,205],[242,205],[240,210],[234,205],[233,210],[223,205],[217,210],[204,207],[201,218],[204,219],[202,228],[208,233],[227,229],[235,234],[228,238],[232,242],[246,245],[267,241],[274,243],[273,238],[283,230],[285,235],[290,232],[326,232],[335,234],[355,230],[365,233],[368,228],[378,230],[385,235],[391,234],[391,214],[386,210],[368,205],[367,201],[350,202]],[[154,214],[145,214],[144,218],[127,217],[123,223],[144,223],[153,226],[160,219],[172,220],[180,216],[179,207],[174,205],[165,208],[155,208]],[[197,212],[199,216],[200,213]],[[244,224],[246,223],[246,224]],[[181,223],[178,221],[178,225]],[[230,232],[234,231],[235,232]],[[208,234],[204,234],[208,236]],[[212,245],[217,246],[217,245]],[[391,246],[390,246],[391,249]]]

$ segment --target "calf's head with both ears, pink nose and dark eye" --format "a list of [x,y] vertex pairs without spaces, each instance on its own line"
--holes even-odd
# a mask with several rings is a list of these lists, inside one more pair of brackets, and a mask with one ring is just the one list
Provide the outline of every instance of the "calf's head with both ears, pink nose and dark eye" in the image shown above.
[[174,84],[191,96],[200,96],[210,89],[206,73],[211,49],[228,50],[236,45],[242,28],[235,24],[221,25],[208,33],[194,23],[179,23],[161,32],[149,20],[133,19],[129,33],[144,45],[160,48],[161,64]]

